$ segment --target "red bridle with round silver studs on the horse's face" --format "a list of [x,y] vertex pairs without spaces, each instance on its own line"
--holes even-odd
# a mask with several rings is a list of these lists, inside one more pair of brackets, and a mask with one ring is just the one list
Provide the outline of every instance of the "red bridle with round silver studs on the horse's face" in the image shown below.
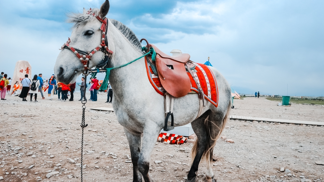
[[[86,51],[81,51],[78,49],[73,48],[71,45],[69,45],[69,43],[71,42],[70,38],[69,40],[66,41],[66,43],[64,43],[64,45],[61,47],[60,50],[62,50],[64,47],[67,47],[68,49],[70,49],[71,51],[73,51],[76,55],[76,57],[78,57],[81,61],[81,63],[84,66],[84,69],[87,70],[88,69],[88,61],[91,60],[91,56],[97,52],[99,49],[101,49],[101,51],[106,51],[108,53],[108,55],[112,55],[112,51],[108,49],[108,43],[106,45],[105,41],[107,40],[107,35],[106,35],[106,30],[108,28],[108,24],[107,24],[107,18],[101,19],[98,15],[95,15],[94,13],[91,13],[91,8],[90,10],[88,10],[87,14],[94,16],[95,18],[97,18],[100,22],[102,22],[101,26],[100,26],[100,30],[102,30],[102,38],[101,38],[101,44],[98,45],[98,47],[96,47],[96,49],[92,50],[90,53],[86,54],[84,53],[84,55],[80,55],[79,52],[86,52]],[[103,49],[102,49],[103,48]],[[76,51],[78,50],[78,51]]]

